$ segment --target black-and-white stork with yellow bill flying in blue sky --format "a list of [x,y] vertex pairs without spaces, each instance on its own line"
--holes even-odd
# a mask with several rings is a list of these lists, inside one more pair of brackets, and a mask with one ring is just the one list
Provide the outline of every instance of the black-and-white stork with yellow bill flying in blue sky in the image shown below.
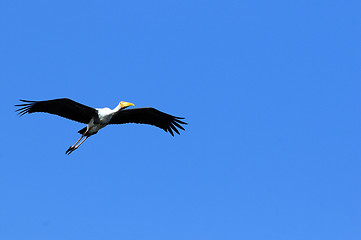
[[90,136],[98,133],[100,129],[109,124],[149,124],[161,128],[165,132],[169,132],[172,136],[174,136],[173,131],[179,135],[178,129],[185,130],[181,124],[187,124],[180,120],[184,119],[182,117],[175,117],[152,107],[127,109],[130,106],[134,106],[134,104],[125,101],[119,102],[114,109],[92,108],[69,98],[45,101],[20,99],[20,101],[22,102],[21,104],[15,105],[18,107],[16,112],[20,116],[35,112],[43,112],[87,124],[86,127],[78,131],[81,136],[78,141],[66,150],[65,154],[67,155],[79,148],[79,146]]

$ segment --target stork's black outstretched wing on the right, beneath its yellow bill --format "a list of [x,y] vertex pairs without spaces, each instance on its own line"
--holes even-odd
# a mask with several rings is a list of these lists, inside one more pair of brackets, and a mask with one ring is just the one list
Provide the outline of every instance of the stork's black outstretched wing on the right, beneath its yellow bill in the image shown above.
[[[180,124],[187,124],[179,119],[154,108],[134,108],[117,112],[109,124],[142,123],[150,124],[169,132],[174,136],[173,131],[179,134],[177,128],[184,130]],[[173,130],[172,130],[173,129]]]

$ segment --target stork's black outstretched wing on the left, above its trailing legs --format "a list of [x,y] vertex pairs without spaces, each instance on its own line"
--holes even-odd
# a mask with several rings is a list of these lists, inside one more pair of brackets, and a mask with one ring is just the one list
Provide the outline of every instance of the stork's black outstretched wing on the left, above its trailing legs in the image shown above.
[[20,116],[26,113],[44,112],[55,114],[73,121],[89,123],[92,117],[96,116],[97,110],[68,98],[53,99],[48,101],[28,101],[20,100],[23,104],[16,111]]

